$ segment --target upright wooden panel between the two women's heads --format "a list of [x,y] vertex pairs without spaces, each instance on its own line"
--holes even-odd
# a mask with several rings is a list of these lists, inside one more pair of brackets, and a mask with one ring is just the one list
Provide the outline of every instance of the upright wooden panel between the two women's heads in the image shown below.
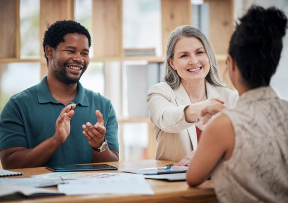
[[233,31],[231,0],[204,0],[209,4],[209,38],[216,54],[226,54]]

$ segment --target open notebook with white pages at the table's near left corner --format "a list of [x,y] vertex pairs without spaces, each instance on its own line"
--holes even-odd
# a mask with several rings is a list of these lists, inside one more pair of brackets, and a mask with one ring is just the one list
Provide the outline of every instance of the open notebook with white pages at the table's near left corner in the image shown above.
[[0,185],[0,200],[17,199],[22,197],[64,195],[57,190],[42,189],[27,186]]

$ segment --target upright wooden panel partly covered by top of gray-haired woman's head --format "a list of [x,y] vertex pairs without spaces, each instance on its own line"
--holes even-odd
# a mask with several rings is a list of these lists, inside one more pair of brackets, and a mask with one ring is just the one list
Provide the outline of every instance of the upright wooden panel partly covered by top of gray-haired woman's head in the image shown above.
[[178,26],[191,25],[190,0],[161,0],[162,13],[162,50],[166,53],[170,33]]

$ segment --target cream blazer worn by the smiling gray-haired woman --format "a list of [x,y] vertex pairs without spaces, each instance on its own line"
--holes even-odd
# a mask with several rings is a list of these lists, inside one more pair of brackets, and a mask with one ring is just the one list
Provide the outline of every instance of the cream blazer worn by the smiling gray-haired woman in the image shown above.
[[[221,98],[226,107],[233,107],[238,98],[234,91],[208,81],[205,85],[208,98]],[[147,103],[158,142],[156,159],[179,162],[197,149],[195,124],[187,123],[184,118],[184,109],[191,103],[182,83],[174,90],[166,82],[153,85],[148,91]]]

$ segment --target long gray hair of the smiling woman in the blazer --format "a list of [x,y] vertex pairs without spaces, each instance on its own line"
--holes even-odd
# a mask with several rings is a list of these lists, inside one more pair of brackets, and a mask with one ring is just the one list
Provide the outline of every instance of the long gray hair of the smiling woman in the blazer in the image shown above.
[[198,28],[190,25],[183,25],[175,28],[175,30],[171,32],[168,38],[166,58],[164,62],[163,80],[166,81],[172,89],[176,89],[180,85],[181,78],[178,75],[177,71],[173,70],[173,68],[170,66],[168,59],[173,59],[175,44],[181,37],[196,37],[201,41],[210,63],[210,70],[205,79],[211,84],[223,86],[218,76],[219,66],[210,42]]

